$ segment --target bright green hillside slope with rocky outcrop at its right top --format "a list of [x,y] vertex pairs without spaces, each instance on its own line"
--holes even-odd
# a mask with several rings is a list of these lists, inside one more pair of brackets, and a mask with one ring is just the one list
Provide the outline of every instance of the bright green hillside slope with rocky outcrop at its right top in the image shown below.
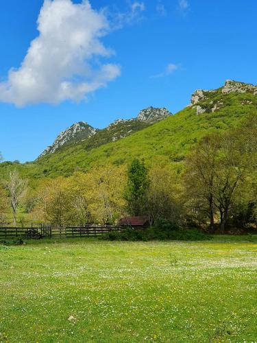
[[[201,137],[214,130],[224,131],[239,126],[247,115],[257,113],[256,88],[238,82],[234,85],[234,88],[228,88],[228,93],[224,93],[227,92],[225,87],[196,92],[197,101],[193,98],[191,106],[129,137],[106,144],[103,141],[101,146],[96,140],[101,136],[90,137],[43,156],[34,163],[16,165],[16,168],[29,178],[69,176],[74,171],[87,171],[93,165],[104,165],[107,161],[125,164],[134,157],[145,158],[149,165],[158,161],[162,165],[173,163],[180,168],[188,151]],[[199,112],[204,113],[197,115]],[[10,163],[1,164],[2,171],[7,167]]]

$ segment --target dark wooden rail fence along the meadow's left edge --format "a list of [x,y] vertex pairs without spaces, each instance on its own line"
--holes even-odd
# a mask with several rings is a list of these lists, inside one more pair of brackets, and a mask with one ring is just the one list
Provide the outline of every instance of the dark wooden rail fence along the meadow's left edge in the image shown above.
[[41,235],[42,237],[49,238],[62,238],[62,237],[97,237],[110,233],[112,231],[125,230],[123,226],[62,226],[54,227],[48,224],[37,224],[33,226],[0,226],[0,239],[30,237],[31,235]]

